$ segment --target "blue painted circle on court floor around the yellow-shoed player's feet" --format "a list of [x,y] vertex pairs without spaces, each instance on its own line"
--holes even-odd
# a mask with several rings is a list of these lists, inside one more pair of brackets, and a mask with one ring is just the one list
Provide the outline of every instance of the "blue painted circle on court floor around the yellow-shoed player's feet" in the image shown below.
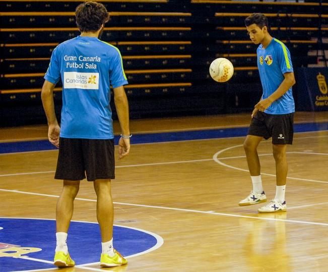
[[[42,262],[53,261],[56,247],[54,220],[0,218],[0,227],[3,228],[0,229],[0,271],[55,267],[52,263]],[[115,249],[125,257],[146,253],[163,244],[163,239],[158,235],[116,225],[113,229],[113,241]],[[67,243],[76,265],[99,262],[101,239],[98,224],[72,221]],[[6,244],[9,244],[9,248],[6,248]],[[32,248],[42,250],[34,252]],[[17,258],[15,249],[23,250],[22,256],[40,261]]]

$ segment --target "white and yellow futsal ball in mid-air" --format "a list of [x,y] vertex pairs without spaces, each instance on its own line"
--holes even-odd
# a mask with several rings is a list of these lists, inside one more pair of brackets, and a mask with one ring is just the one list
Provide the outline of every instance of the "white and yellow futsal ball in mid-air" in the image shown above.
[[233,65],[226,58],[215,59],[210,65],[210,75],[217,82],[226,82],[233,75]]

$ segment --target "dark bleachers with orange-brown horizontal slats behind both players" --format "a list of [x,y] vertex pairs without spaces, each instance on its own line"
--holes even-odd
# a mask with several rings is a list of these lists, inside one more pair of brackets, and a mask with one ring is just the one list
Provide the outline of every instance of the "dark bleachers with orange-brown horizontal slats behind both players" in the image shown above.
[[[110,13],[102,39],[121,51],[132,118],[250,111],[259,99],[256,45],[244,19],[265,13],[271,34],[290,49],[294,67],[327,49],[328,4],[221,0],[100,0]],[[79,35],[80,1],[0,0],[1,123],[44,122],[40,90],[54,47]],[[214,82],[210,63],[225,57],[233,78]],[[61,87],[55,89],[59,114]],[[22,108],[27,110],[20,115]]]

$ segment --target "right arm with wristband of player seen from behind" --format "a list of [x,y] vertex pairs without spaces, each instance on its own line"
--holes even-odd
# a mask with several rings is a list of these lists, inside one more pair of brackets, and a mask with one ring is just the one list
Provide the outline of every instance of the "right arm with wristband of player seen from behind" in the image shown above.
[[118,141],[118,154],[119,158],[123,158],[130,151],[128,102],[123,86],[114,88],[114,103],[122,132],[122,137]]

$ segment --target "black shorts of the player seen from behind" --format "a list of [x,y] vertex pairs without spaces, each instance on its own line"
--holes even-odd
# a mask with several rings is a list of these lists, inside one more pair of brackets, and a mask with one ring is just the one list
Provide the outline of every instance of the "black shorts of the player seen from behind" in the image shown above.
[[59,139],[55,179],[95,181],[115,178],[114,140]]

